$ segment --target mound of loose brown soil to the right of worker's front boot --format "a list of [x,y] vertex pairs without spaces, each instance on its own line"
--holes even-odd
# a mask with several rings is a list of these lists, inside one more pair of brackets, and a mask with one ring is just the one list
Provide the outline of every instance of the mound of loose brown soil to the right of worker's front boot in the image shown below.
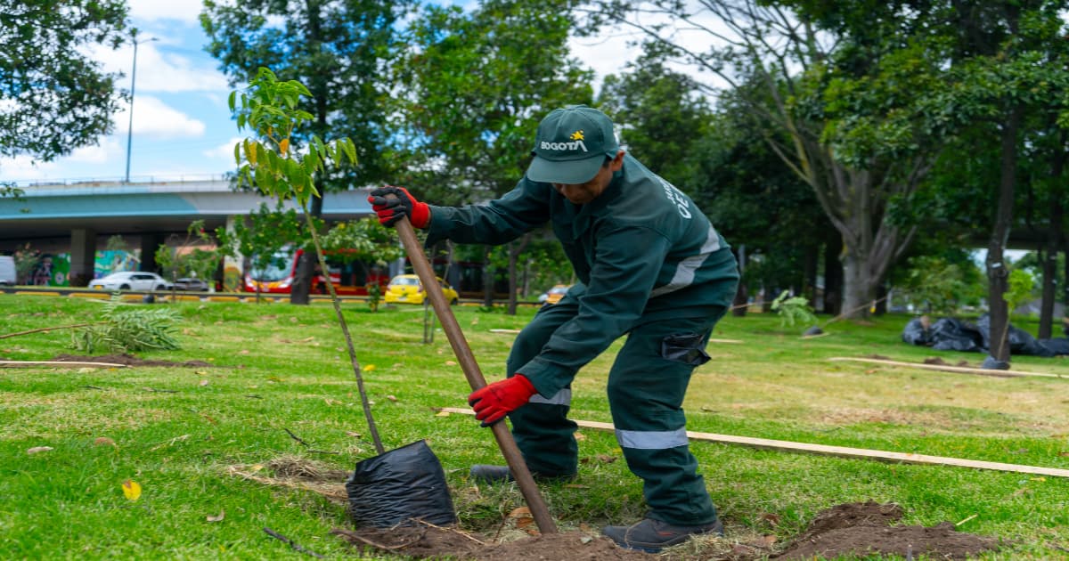
[[835,558],[842,555],[897,555],[915,559],[967,559],[998,548],[992,537],[956,531],[952,523],[933,527],[890,526],[902,517],[897,504],[847,503],[821,512],[809,528],[775,559]]

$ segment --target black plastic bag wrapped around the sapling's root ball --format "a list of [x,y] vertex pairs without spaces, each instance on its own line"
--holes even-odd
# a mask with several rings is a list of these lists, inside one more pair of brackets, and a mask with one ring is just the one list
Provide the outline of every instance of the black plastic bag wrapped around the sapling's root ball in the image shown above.
[[425,440],[357,462],[345,490],[357,527],[456,523],[446,472]]

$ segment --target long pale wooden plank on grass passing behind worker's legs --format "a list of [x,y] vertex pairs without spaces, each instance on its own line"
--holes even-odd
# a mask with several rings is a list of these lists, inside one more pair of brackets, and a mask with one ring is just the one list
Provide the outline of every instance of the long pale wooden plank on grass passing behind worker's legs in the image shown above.
[[[454,407],[443,407],[443,412],[455,412],[460,415],[475,415],[471,409],[460,409]],[[573,419],[573,421],[575,421]],[[575,424],[597,428],[599,431],[613,431],[611,423],[598,421],[575,421]],[[956,466],[973,469],[991,469],[995,471],[1012,471],[1016,473],[1033,473],[1036,476],[1051,476],[1055,478],[1069,478],[1069,469],[1048,468],[1039,466],[1024,466],[1020,464],[1003,464],[1001,462],[981,462],[976,459],[962,459],[958,457],[929,456],[925,454],[910,454],[905,452],[885,452],[882,450],[868,450],[864,448],[848,448],[842,446],[808,445],[805,442],[791,442],[789,440],[772,440],[769,438],[750,438],[748,436],[721,435],[713,433],[698,433],[687,431],[686,436],[694,440],[707,442],[721,442],[726,445],[741,445],[762,450],[776,450],[781,452],[805,452],[809,454],[822,454],[838,457],[855,457],[863,459],[876,459],[879,462],[890,462],[900,464],[926,464],[936,466]]]

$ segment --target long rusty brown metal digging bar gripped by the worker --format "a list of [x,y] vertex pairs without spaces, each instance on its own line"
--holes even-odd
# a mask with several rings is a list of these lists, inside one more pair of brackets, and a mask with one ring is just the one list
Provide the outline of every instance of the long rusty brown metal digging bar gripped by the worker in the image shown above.
[[[449,339],[449,344],[452,345],[453,353],[456,355],[461,368],[464,369],[464,376],[471,386],[471,391],[485,387],[486,378],[483,377],[482,371],[479,370],[475,355],[471,354],[471,347],[468,346],[467,340],[461,331],[461,326],[456,323],[456,317],[449,308],[449,302],[446,301],[446,296],[441,294],[440,290],[435,290],[438,287],[438,280],[431,268],[430,262],[427,261],[427,255],[423,253],[419,239],[416,237],[416,231],[413,229],[412,222],[408,221],[407,217],[402,217],[401,220],[393,224],[393,228],[398,231],[398,235],[401,236],[401,243],[408,253],[408,261],[412,262],[413,268],[416,269],[416,275],[419,276],[419,280],[423,284],[423,290],[427,291],[427,295],[431,299],[434,313],[437,314],[438,321],[441,322],[441,329],[446,332],[446,338]],[[549,516],[549,510],[546,508],[545,501],[542,500],[542,495],[539,494],[538,485],[534,484],[534,478],[531,477],[530,470],[527,469],[527,464],[524,463],[524,457],[520,453],[520,448],[516,447],[516,441],[512,438],[509,427],[506,426],[503,421],[498,421],[491,425],[491,430],[494,432],[494,438],[497,439],[497,447],[501,449],[501,454],[505,455],[505,462],[509,465],[509,470],[512,472],[513,479],[520,485],[520,493],[523,494],[524,500],[527,501],[527,508],[530,509],[531,516],[534,518],[534,524],[538,525],[539,531],[543,534],[557,533],[557,525],[553,521],[553,517]]]

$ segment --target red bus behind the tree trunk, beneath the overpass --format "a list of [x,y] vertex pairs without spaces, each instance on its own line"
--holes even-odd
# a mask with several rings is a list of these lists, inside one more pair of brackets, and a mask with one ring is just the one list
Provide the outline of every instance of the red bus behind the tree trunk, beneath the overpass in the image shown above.
[[[275,259],[262,268],[250,267],[245,275],[245,282],[242,290],[245,292],[257,292],[263,294],[290,294],[293,290],[293,282],[297,278],[297,263],[305,250],[282,249],[275,253]],[[378,265],[372,265],[362,261],[340,260],[337,253],[324,255],[329,269],[330,282],[334,284],[335,293],[340,296],[367,296],[368,285],[378,284],[379,293],[386,293],[386,285],[390,281],[389,271]],[[327,294],[326,278],[315,266],[316,275],[312,280],[312,294]]]

